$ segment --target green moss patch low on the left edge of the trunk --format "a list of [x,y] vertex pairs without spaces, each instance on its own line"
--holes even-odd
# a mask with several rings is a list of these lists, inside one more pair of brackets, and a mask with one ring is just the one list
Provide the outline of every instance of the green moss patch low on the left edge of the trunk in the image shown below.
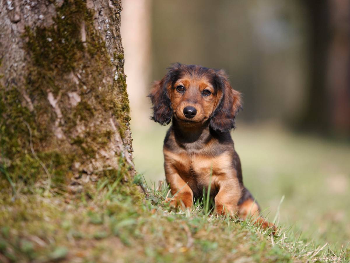
[[[0,89],[0,166],[8,171],[13,181],[35,182],[44,173],[35,155],[48,168],[54,183],[64,182],[72,156],[58,151],[42,151],[34,154],[31,144],[38,144],[45,133],[37,125],[35,116],[19,101],[20,93],[15,88]],[[29,128],[28,128],[28,126]],[[31,136],[30,136],[31,134]]]

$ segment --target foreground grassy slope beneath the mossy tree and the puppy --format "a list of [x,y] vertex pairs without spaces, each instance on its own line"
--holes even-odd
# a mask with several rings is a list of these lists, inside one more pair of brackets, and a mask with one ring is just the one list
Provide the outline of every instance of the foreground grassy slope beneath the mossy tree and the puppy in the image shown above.
[[[135,182],[142,182],[138,175]],[[35,191],[36,189],[36,191]],[[169,187],[148,186],[137,202],[120,181],[71,195],[33,188],[1,191],[0,262],[345,262],[344,249],[275,237],[247,221],[211,214],[204,195],[192,210],[169,206]],[[340,257],[338,257],[340,256]]]

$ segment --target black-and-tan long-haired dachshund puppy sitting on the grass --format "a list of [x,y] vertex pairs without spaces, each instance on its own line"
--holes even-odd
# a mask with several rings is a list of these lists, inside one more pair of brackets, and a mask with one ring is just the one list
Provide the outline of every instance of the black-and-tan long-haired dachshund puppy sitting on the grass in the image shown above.
[[164,140],[164,168],[174,206],[190,208],[195,196],[210,187],[215,212],[252,215],[255,223],[273,227],[259,215],[259,205],[244,187],[241,164],[231,139],[241,109],[240,93],[222,70],[173,64],[154,82],[152,120],[169,124]]

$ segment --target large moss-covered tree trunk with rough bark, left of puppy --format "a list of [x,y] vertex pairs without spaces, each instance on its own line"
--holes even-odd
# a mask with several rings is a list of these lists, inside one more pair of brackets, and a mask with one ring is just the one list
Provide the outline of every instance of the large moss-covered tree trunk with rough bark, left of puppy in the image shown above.
[[0,168],[8,180],[48,188],[79,185],[82,176],[127,181],[134,168],[121,1],[1,1],[0,10]]

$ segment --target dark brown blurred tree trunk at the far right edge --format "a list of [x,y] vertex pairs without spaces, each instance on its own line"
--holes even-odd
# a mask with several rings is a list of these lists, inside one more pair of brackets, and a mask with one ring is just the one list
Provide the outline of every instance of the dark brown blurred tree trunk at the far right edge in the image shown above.
[[350,135],[350,2],[306,1],[309,83],[302,125]]

